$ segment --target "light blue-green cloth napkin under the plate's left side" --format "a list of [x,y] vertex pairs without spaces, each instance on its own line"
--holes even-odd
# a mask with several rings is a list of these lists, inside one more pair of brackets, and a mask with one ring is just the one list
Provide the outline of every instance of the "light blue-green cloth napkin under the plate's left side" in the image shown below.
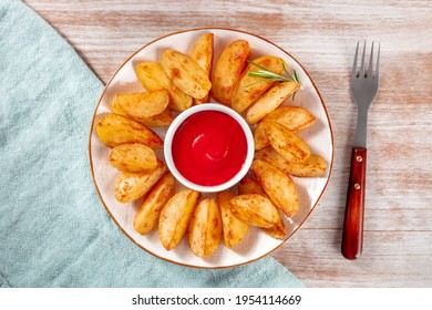
[[302,287],[271,257],[205,270],[131,242],[99,200],[89,128],[103,85],[18,0],[0,2],[0,287]]

